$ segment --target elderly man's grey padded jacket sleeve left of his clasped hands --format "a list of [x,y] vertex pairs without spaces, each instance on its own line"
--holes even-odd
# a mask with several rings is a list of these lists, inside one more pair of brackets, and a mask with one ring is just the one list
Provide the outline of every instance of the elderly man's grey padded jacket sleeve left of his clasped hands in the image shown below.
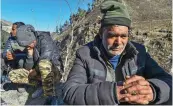
[[74,66],[63,88],[64,102],[70,105],[115,105],[115,82],[88,83],[82,56],[77,53]]

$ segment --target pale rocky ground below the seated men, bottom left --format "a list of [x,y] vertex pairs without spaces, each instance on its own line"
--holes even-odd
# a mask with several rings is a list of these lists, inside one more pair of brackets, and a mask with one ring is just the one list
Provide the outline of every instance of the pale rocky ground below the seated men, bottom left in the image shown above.
[[[19,86],[18,89],[14,88],[1,91],[1,105],[44,105],[46,102],[46,97],[43,95],[32,98],[32,93],[37,89],[35,87]],[[58,103],[62,104],[62,84],[57,84],[56,89]]]

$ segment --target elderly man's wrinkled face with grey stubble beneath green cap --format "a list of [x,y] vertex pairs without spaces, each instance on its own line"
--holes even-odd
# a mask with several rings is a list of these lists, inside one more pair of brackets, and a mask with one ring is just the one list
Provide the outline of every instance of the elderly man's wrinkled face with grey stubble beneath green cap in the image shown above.
[[120,55],[128,42],[128,27],[110,26],[103,28],[102,43],[109,55]]

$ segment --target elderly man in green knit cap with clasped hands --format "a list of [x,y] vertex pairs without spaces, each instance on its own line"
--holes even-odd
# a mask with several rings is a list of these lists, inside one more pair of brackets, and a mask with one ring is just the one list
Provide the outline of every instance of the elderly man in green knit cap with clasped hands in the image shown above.
[[116,0],[101,5],[104,16],[94,41],[76,52],[64,85],[64,102],[73,105],[162,104],[171,100],[172,76],[128,40],[131,20]]

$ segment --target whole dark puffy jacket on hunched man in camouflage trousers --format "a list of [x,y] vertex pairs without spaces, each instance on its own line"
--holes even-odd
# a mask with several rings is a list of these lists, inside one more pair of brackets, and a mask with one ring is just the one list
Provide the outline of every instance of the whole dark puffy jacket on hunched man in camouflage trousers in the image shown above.
[[[34,56],[28,57],[26,61],[28,63],[28,69],[37,66],[39,61],[43,59],[50,61],[54,66],[61,69],[60,66],[62,63],[60,62],[60,53],[58,47],[51,38],[50,33],[37,31],[35,32],[35,36],[37,43],[34,48]],[[34,64],[32,63],[32,60]]]

